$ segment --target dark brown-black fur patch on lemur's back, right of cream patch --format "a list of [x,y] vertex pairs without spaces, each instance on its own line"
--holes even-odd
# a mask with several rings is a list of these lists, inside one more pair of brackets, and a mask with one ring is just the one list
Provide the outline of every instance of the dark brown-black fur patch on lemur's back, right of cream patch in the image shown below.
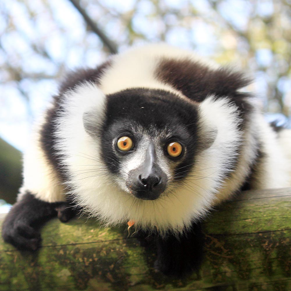
[[238,91],[251,82],[241,72],[233,72],[228,68],[212,69],[207,65],[189,61],[188,58],[163,58],[155,74],[157,79],[172,85],[193,101],[202,102],[210,95],[231,98],[231,102],[238,107],[242,120],[252,110],[252,106],[245,101],[251,95]]

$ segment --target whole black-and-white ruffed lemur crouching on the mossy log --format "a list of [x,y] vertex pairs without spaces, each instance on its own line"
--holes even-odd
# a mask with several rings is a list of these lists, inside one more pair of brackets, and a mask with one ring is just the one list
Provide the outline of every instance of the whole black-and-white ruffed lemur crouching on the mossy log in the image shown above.
[[264,120],[249,82],[165,44],[68,74],[25,152],[4,240],[36,250],[42,223],[83,211],[154,237],[162,272],[193,269],[213,207],[242,189],[291,186],[291,130]]

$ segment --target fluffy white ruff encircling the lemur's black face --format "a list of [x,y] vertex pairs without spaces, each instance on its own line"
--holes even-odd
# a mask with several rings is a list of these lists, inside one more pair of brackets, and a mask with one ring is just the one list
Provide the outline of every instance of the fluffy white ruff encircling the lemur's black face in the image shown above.
[[[68,184],[74,189],[73,196],[88,212],[108,225],[133,219],[142,228],[156,226],[162,233],[168,229],[182,232],[212,207],[219,181],[227,172],[224,164],[235,158],[236,146],[241,142],[236,108],[229,105],[228,100],[214,102],[210,97],[202,102],[202,122],[217,127],[217,138],[210,148],[198,155],[197,166],[186,182],[178,188],[179,184],[170,187],[171,191],[166,191],[157,200],[144,201],[113,182],[100,157],[98,144],[101,141],[93,140],[82,125],[83,113],[92,107],[100,108],[102,117],[104,98],[92,84],[66,94],[67,110],[59,118],[58,137],[65,154],[63,163],[69,166],[71,179]],[[218,116],[219,122],[215,119]],[[232,120],[231,126],[229,120]]]

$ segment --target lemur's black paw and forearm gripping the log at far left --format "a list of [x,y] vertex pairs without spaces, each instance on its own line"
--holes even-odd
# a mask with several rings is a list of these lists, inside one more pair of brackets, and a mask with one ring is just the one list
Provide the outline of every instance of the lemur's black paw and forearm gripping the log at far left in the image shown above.
[[75,214],[68,202],[49,203],[26,193],[7,214],[2,237],[18,249],[35,251],[41,246],[40,228],[45,222],[56,216],[65,222]]

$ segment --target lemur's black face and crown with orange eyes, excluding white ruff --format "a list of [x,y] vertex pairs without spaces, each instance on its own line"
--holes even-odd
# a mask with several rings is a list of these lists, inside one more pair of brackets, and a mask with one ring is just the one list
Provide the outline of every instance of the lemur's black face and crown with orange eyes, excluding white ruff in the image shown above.
[[102,126],[90,118],[94,111],[85,113],[84,127],[101,140],[102,159],[120,189],[135,198],[167,195],[205,146],[196,104],[173,93],[128,89],[108,95],[105,112]]

